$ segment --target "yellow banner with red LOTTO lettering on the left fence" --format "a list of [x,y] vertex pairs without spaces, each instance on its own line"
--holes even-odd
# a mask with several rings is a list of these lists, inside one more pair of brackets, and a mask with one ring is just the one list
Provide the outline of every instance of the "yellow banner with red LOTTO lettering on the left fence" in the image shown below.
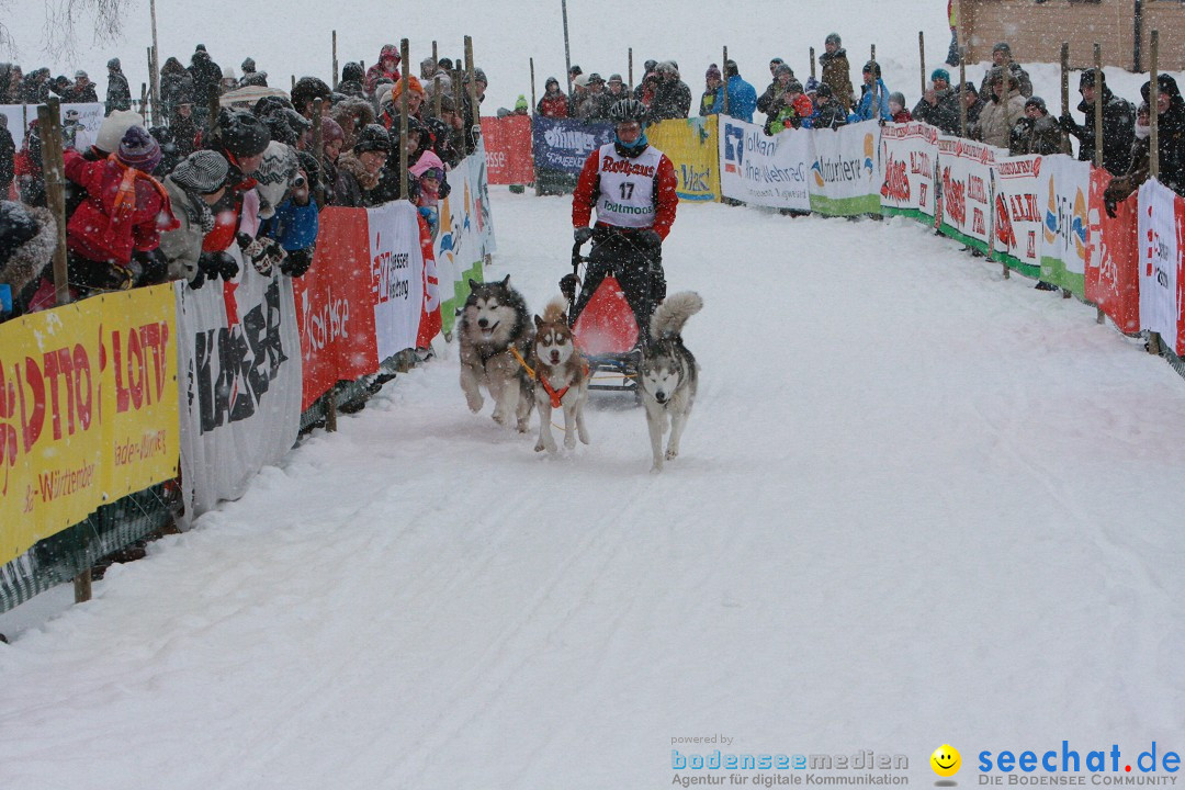
[[0,325],[0,565],[177,476],[172,285]]

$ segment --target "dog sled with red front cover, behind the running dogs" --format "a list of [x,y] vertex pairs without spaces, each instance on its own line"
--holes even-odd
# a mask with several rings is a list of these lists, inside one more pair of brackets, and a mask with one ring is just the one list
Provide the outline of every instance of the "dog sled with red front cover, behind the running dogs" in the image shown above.
[[[572,274],[561,281],[561,290],[570,306],[569,314],[571,306],[576,304],[577,283],[583,282],[582,275],[589,264],[589,256],[581,255],[581,246],[579,242],[572,245]],[[651,320],[656,300],[652,283],[642,302],[642,315],[635,316],[619,281],[621,274],[615,268],[601,281],[576,317],[572,334],[576,348],[589,366],[589,390],[630,392],[638,397],[638,368],[642,357],[639,327]]]

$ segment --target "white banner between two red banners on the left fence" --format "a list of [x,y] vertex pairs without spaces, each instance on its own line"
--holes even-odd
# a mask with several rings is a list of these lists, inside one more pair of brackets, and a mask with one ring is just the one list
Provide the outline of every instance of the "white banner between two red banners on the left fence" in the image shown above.
[[[455,187],[454,187],[455,190]],[[424,301],[419,214],[406,200],[366,210],[378,358],[416,347]]]

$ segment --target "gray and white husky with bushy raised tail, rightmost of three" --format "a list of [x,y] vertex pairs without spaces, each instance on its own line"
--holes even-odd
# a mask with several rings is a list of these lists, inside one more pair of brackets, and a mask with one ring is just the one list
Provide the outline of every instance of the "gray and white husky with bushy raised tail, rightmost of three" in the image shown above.
[[[703,307],[699,294],[681,291],[667,296],[651,316],[651,339],[642,346],[638,375],[651,429],[654,473],[662,471],[664,457],[670,461],[679,455],[679,438],[696,400],[699,371],[696,358],[683,345],[683,326]],[[668,420],[671,441],[664,456],[662,435]]]

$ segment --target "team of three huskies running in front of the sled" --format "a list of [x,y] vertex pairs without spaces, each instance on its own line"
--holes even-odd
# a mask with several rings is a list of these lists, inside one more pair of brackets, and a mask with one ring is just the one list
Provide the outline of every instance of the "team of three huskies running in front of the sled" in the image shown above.
[[[589,397],[589,371],[568,322],[568,302],[557,296],[532,319],[523,295],[510,284],[469,281],[457,333],[461,347],[461,390],[469,410],[481,411],[480,387],[494,399],[494,420],[530,430],[532,406],[539,411],[537,452],[558,450],[551,433],[551,413],[564,415],[564,447],[576,438],[589,443],[584,405]],[[642,343],[638,384],[646,407],[654,465],[679,455],[679,439],[696,399],[696,358],[683,345],[683,327],[704,302],[693,291],[668,296],[651,316],[651,338]],[[662,436],[671,439],[662,450]]]

